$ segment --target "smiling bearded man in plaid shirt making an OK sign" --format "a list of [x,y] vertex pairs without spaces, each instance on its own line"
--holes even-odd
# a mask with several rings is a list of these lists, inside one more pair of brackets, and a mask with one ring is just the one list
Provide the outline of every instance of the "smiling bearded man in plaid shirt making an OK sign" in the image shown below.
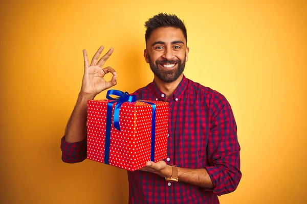
[[[128,171],[129,203],[219,203],[217,195],[234,191],[242,176],[231,107],[222,94],[184,76],[189,47],[182,20],[160,13],[145,26],[144,58],[154,80],[133,94],[138,99],[168,101],[168,149],[165,161]],[[113,49],[98,60],[102,50],[91,64],[83,50],[82,87],[61,140],[62,160],[67,163],[86,158],[87,100],[116,85],[115,70],[102,69]],[[108,72],[113,78],[106,82],[103,77]]]

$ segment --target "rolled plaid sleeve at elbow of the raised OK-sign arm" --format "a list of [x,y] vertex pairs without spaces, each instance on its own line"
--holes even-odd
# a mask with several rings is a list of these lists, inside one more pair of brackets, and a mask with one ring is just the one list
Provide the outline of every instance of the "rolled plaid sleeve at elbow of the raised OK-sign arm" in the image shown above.
[[80,142],[69,143],[65,136],[61,139],[62,161],[65,163],[78,163],[86,159],[86,138]]

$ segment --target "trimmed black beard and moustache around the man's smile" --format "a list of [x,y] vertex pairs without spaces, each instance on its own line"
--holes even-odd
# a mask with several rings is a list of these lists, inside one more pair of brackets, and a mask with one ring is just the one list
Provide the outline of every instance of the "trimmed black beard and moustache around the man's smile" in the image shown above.
[[[184,61],[182,63],[178,59],[178,60],[161,60],[161,61],[156,60],[156,63],[153,64],[149,55],[148,55],[148,60],[149,60],[150,69],[153,72],[153,74],[155,74],[161,81],[170,83],[176,81],[183,73],[186,62],[185,57],[186,54],[184,55]],[[159,64],[178,64],[178,68],[173,70],[160,70]]]

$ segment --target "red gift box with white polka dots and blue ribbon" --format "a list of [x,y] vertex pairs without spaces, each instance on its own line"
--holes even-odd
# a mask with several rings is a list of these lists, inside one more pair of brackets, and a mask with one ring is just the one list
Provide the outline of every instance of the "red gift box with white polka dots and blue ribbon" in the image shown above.
[[135,171],[167,157],[167,102],[89,100],[87,105],[87,159]]

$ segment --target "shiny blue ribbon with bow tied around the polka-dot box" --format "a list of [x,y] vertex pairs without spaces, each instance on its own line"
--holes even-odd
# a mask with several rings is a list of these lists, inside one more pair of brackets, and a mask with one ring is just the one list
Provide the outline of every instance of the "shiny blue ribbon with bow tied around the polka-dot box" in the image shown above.
[[[117,95],[119,97],[113,98],[110,95]],[[120,107],[124,102],[135,102],[137,101],[136,95],[129,95],[128,92],[122,92],[119,90],[108,90],[106,93],[106,98],[115,100],[107,103],[106,112],[106,130],[105,130],[105,150],[104,150],[104,163],[109,164],[109,152],[111,143],[111,126],[112,126],[112,109],[113,104],[117,103],[114,108],[113,123],[114,127],[120,131],[119,124],[119,112]],[[150,104],[152,106],[152,122],[151,122],[151,150],[150,150],[150,161],[155,161],[155,130],[156,130],[156,104],[150,103],[144,100],[138,100],[143,103]]]

